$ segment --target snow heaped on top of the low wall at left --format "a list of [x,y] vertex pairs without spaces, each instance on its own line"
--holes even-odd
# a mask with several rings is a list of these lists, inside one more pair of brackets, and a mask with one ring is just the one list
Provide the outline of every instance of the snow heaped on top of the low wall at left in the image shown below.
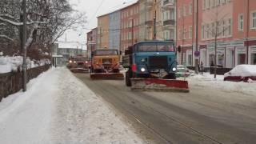
[[[15,57],[0,57],[0,74],[9,73],[11,71],[22,70],[22,56]],[[45,64],[50,64],[50,60],[42,59],[40,61],[30,60],[30,58],[26,59],[28,69],[34,68],[37,66],[43,66]]]

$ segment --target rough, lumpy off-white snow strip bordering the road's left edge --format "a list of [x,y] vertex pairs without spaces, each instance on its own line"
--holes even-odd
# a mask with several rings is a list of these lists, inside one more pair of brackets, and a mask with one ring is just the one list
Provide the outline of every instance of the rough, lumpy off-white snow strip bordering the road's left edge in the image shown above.
[[62,93],[56,98],[57,115],[54,118],[54,142],[62,143],[142,143],[141,138],[117,115],[102,98],[63,69],[65,79],[60,81]]

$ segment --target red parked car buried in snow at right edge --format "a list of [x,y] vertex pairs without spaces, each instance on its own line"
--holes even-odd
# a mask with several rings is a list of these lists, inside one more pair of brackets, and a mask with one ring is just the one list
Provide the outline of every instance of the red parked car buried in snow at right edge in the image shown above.
[[256,82],[256,65],[239,65],[224,74],[224,81]]

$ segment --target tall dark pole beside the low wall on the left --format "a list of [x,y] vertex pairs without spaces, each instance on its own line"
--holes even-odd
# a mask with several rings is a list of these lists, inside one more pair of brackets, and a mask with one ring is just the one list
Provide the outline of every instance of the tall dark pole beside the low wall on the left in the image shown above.
[[22,89],[26,91],[26,0],[22,0]]

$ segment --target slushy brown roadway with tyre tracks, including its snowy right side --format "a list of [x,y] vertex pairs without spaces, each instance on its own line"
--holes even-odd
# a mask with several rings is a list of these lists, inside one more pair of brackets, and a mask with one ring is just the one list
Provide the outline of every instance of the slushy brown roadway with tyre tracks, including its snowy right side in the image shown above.
[[123,81],[75,75],[156,143],[256,142],[255,83],[199,76],[189,78],[189,94],[135,92]]

